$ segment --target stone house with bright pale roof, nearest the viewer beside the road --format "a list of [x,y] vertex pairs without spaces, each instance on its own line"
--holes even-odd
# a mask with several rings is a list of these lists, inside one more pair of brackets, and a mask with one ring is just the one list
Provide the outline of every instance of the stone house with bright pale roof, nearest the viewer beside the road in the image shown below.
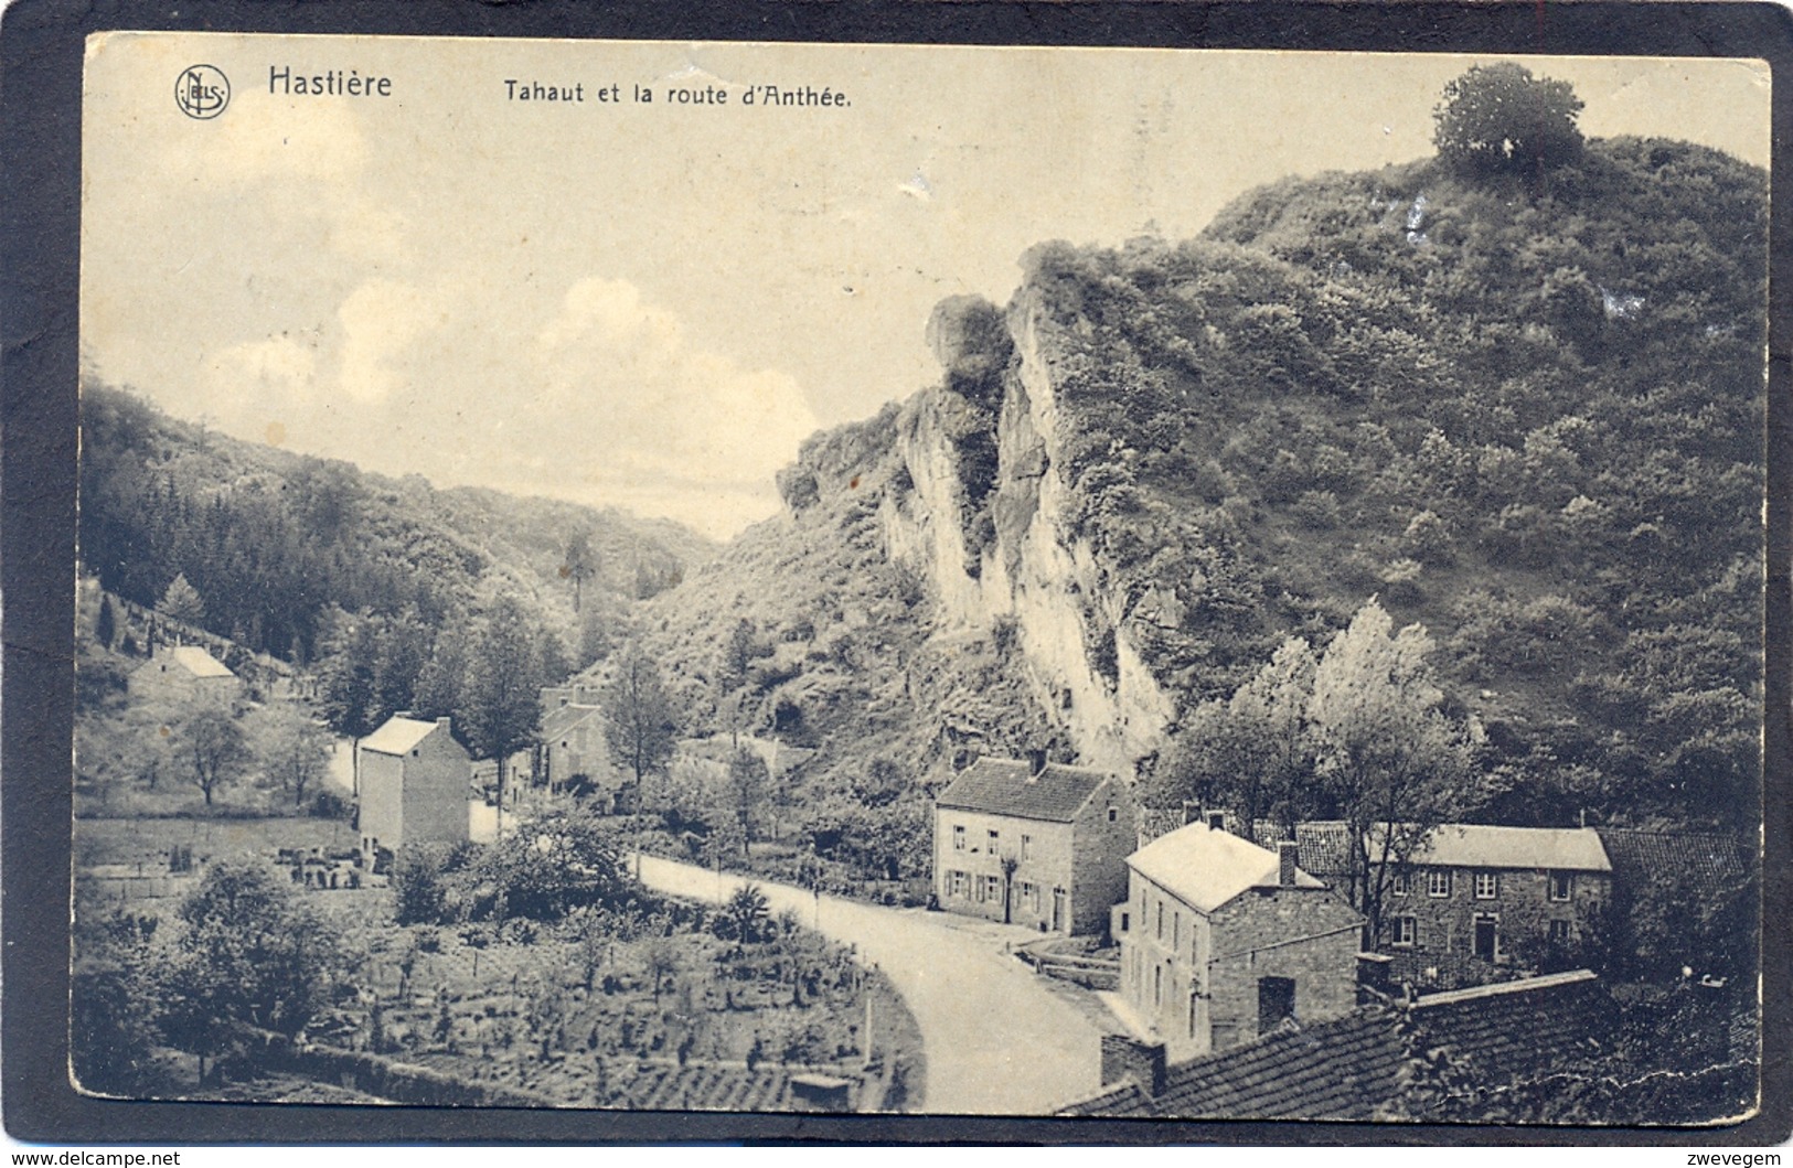
[[1363,917],[1298,860],[1205,819],[1128,856],[1112,933],[1139,1037],[1189,1059],[1356,1007]]

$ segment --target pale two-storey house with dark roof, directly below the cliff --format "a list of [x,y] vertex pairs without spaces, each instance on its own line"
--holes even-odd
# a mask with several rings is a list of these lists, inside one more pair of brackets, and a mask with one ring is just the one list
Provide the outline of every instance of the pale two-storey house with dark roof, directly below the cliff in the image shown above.
[[1044,752],[981,758],[934,799],[934,896],[1042,933],[1101,933],[1137,831],[1133,794],[1112,774]]

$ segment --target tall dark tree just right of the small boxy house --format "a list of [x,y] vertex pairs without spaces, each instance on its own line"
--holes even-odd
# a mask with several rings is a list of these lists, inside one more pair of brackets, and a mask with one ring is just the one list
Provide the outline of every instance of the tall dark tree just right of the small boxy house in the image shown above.
[[541,699],[541,640],[511,593],[500,595],[473,634],[461,688],[463,729],[475,758],[498,765],[498,828],[504,828],[504,779],[511,754],[536,733]]

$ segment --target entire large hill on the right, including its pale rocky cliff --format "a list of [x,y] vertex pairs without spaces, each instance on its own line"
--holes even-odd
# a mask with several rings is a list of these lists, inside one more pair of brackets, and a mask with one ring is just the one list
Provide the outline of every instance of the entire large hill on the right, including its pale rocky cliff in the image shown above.
[[[1051,740],[1165,795],[1198,708],[1375,597],[1485,731],[1458,813],[1752,820],[1766,176],[1528,149],[1291,177],[1189,242],[1035,247],[1008,308],[936,313],[938,387],[818,435],[789,514],[654,602],[656,652],[714,677],[724,613],[803,645],[758,722],[803,726],[827,786],[864,742],[938,767]],[[843,643],[907,648],[807,640],[855,611],[889,618]],[[932,691],[984,700],[893,722],[880,670],[923,648]]]

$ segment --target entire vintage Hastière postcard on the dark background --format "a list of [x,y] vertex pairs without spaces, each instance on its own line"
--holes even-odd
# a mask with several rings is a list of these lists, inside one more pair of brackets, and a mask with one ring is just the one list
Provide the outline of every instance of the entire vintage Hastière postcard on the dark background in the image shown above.
[[81,115],[79,1091],[1757,1111],[1766,63],[104,32]]

